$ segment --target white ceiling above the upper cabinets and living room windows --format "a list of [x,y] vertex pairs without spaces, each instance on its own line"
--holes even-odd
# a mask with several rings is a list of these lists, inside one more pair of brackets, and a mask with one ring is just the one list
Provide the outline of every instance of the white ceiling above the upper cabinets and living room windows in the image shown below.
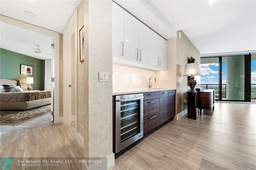
[[201,54],[256,50],[255,0],[116,2],[165,39],[182,29]]

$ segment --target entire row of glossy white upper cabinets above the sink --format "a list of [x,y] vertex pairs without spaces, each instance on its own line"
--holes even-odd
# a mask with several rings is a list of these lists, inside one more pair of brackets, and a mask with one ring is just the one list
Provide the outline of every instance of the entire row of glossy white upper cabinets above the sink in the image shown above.
[[167,42],[112,2],[112,55],[116,63],[164,70],[167,67]]

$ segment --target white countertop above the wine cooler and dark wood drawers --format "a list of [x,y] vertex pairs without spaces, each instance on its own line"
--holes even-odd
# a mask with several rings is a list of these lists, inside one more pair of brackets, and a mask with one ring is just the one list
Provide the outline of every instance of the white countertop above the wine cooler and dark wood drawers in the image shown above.
[[175,89],[125,89],[125,90],[113,90],[113,96],[116,95],[128,95],[134,93],[146,93],[150,91],[164,91],[164,90],[175,90]]

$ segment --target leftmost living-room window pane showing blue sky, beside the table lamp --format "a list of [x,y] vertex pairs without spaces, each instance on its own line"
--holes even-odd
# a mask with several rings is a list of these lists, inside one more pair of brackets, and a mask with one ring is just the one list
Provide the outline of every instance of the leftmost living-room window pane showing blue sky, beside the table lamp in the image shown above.
[[215,89],[219,99],[219,57],[201,58],[201,84],[204,89]]

